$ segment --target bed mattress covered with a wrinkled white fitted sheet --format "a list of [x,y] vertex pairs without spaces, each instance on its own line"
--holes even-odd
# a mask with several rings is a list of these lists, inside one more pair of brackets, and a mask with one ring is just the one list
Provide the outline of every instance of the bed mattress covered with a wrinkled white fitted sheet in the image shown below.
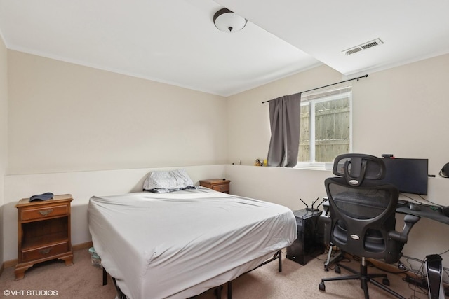
[[89,230],[128,298],[188,298],[253,269],[297,237],[279,204],[200,188],[91,197]]

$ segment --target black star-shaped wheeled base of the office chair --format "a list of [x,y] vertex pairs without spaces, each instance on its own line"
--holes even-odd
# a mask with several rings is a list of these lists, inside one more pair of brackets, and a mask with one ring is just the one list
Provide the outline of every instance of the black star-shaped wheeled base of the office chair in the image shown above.
[[[381,274],[381,273],[375,273],[375,274],[368,274],[368,267],[366,265],[365,258],[362,258],[361,265],[360,265],[360,272],[357,272],[350,267],[347,267],[345,265],[342,265],[340,263],[337,263],[335,265],[335,272],[340,273],[340,267],[343,269],[351,272],[353,275],[348,276],[342,276],[342,277],[330,277],[330,278],[323,278],[321,279],[321,283],[319,284],[319,290],[320,291],[326,291],[326,286],[324,284],[325,281],[336,281],[336,280],[360,280],[360,287],[363,289],[363,293],[365,294],[365,298],[368,299],[368,282],[371,284],[374,284],[375,286],[382,288],[382,290],[387,291],[391,295],[394,295],[397,298],[404,298],[403,296],[399,295],[395,291],[391,290],[390,288],[387,288],[389,286],[390,281],[388,280],[387,274]],[[382,277],[382,284],[374,278]],[[405,298],[404,298],[405,299]]]

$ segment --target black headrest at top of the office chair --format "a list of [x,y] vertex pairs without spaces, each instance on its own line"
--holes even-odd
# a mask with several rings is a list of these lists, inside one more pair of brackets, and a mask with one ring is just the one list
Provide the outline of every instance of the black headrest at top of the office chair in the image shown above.
[[335,158],[332,172],[343,176],[349,185],[360,186],[365,179],[384,179],[385,164],[373,155],[344,153]]

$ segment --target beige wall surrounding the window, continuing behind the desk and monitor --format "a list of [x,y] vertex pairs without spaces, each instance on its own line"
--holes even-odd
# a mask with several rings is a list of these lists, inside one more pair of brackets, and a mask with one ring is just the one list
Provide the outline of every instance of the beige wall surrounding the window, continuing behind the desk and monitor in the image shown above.
[[[449,206],[449,179],[438,172],[449,162],[449,139],[445,127],[449,101],[449,55],[369,74],[353,81],[353,151],[398,158],[429,158],[428,200]],[[326,66],[242,92],[228,98],[229,162],[253,165],[267,156],[269,145],[268,105],[262,101],[341,81]],[[332,176],[324,170],[281,169],[229,165],[227,179],[237,195],[278,202],[302,209],[300,198],[311,203],[326,196],[323,181]],[[419,197],[415,196],[417,200]],[[398,229],[402,229],[401,216]],[[449,225],[422,218],[404,249],[408,256],[423,259],[449,248]],[[446,260],[446,261],[444,261]],[[443,256],[445,267],[449,261]]]

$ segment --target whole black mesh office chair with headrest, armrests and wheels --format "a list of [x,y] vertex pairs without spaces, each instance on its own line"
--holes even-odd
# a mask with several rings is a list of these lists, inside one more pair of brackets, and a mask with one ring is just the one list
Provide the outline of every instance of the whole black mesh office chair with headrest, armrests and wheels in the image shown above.
[[[333,174],[337,177],[325,181],[329,199],[329,215],[320,216],[325,227],[326,244],[339,247],[345,253],[361,258],[360,272],[336,264],[353,273],[346,277],[321,279],[319,289],[326,291],[324,281],[360,279],[361,288],[368,299],[368,282],[397,298],[398,293],[387,288],[386,274],[368,274],[365,258],[377,258],[385,263],[396,263],[408,239],[408,232],[420,217],[404,217],[402,232],[395,230],[398,190],[391,184],[380,183],[384,178],[382,159],[372,155],[344,154],[335,158]],[[373,278],[383,277],[382,284]],[[385,286],[387,285],[387,286]]]

